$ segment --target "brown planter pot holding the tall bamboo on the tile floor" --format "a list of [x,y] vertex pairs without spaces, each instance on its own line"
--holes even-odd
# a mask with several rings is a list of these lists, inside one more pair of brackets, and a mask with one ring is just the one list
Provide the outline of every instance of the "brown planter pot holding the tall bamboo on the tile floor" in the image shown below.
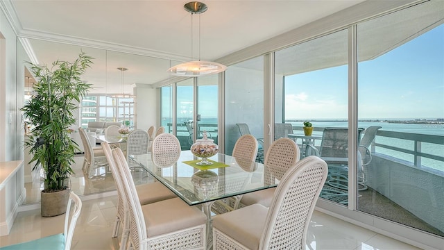
[[69,189],[59,192],[41,192],[41,213],[43,217],[53,217],[67,212]]

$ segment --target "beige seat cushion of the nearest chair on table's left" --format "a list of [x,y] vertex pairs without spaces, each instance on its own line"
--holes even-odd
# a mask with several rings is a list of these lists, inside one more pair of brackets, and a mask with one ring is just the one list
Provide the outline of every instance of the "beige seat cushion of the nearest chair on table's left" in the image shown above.
[[142,206],[148,238],[203,225],[207,216],[180,198],[167,199]]

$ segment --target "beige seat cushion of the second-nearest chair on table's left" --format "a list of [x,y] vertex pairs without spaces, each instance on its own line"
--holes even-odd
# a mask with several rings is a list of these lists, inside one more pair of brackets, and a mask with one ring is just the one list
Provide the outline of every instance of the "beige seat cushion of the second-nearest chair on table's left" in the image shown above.
[[178,197],[160,182],[137,185],[136,190],[141,205]]

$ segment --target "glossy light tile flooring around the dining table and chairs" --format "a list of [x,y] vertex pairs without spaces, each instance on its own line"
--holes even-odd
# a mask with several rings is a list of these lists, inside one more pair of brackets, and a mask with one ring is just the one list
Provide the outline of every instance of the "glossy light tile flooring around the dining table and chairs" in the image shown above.
[[[80,170],[81,173],[82,161],[83,158],[80,157],[76,172]],[[119,249],[119,239],[111,238],[117,213],[117,197],[115,191],[110,191],[113,190],[114,185],[107,176],[88,179],[78,174],[77,177],[71,179],[71,189],[78,194],[101,192],[83,196],[83,208],[76,224],[71,249]],[[102,178],[100,183],[99,178]],[[133,178],[139,183],[148,179],[137,172]],[[94,183],[94,181],[97,182]],[[39,193],[36,191],[39,190],[38,184],[31,185],[27,189],[28,196],[31,196],[31,193]],[[39,201],[40,197],[29,199],[29,202]],[[64,215],[41,217],[40,209],[24,210],[17,215],[10,234],[0,237],[0,247],[61,233],[64,219]],[[306,249],[409,250],[418,248],[315,211],[307,233]]]

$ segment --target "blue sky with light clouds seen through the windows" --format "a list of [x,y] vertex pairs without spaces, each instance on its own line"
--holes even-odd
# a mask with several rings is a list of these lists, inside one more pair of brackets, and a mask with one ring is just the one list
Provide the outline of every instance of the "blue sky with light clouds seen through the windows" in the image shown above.
[[[359,47],[359,44],[358,44]],[[347,119],[348,66],[286,76],[286,119]],[[217,115],[216,86],[202,86],[199,113]],[[192,108],[192,88],[178,103]],[[166,103],[164,103],[166,104]],[[184,106],[184,108],[185,108]],[[182,110],[178,117],[191,117]],[[358,65],[359,119],[444,118],[444,24]]]

